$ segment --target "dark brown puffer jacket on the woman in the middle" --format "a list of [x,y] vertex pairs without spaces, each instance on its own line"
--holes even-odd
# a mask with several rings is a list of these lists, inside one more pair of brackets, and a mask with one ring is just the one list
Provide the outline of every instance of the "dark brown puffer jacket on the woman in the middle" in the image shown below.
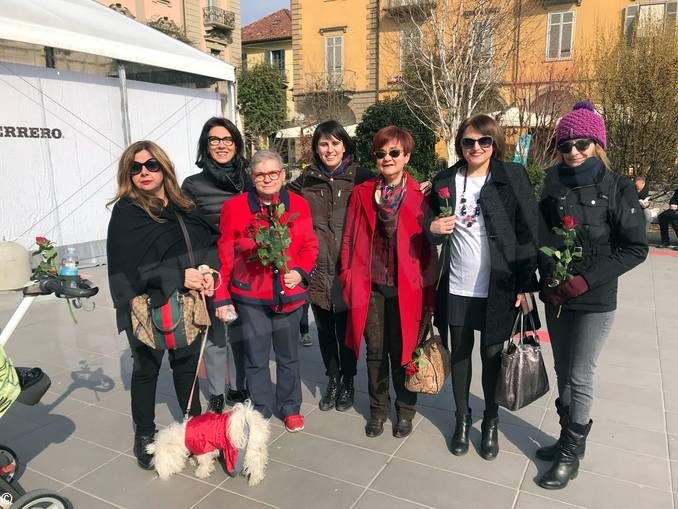
[[313,232],[318,238],[318,259],[311,272],[311,302],[322,309],[345,309],[338,280],[339,254],[344,231],[346,209],[353,187],[374,175],[357,163],[349,165],[336,177],[328,177],[317,166],[306,168],[287,185],[287,189],[303,196],[311,208]]

